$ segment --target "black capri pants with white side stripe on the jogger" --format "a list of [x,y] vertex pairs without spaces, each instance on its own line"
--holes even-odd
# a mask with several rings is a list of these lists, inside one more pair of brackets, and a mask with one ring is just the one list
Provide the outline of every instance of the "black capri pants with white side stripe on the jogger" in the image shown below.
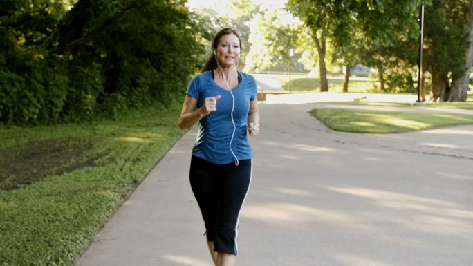
[[250,189],[252,160],[214,164],[192,156],[190,184],[214,251],[236,255],[241,208]]

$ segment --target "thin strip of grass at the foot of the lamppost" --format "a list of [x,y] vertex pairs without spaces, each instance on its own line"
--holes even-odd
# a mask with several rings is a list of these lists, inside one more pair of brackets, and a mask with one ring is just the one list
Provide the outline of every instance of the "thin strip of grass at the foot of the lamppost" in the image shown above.
[[326,104],[353,104],[368,106],[416,107],[416,108],[443,108],[443,109],[473,109],[473,100],[468,102],[427,102],[425,106],[416,106],[408,102],[326,102]]

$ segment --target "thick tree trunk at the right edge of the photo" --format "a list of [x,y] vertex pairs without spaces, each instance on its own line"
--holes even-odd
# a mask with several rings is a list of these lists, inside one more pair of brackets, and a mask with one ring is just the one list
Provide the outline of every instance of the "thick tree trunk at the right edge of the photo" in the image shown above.
[[465,21],[465,34],[468,36],[468,49],[465,55],[464,73],[460,77],[454,77],[452,91],[450,91],[449,102],[465,102],[470,84],[470,71],[473,64],[473,0],[470,0],[470,8]]

